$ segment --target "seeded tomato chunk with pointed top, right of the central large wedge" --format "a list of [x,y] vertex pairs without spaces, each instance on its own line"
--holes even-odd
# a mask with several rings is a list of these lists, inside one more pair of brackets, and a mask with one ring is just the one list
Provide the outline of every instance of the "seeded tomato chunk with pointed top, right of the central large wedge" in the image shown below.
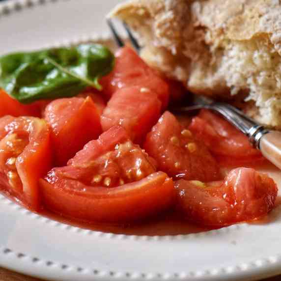
[[144,148],[160,170],[174,178],[217,180],[219,168],[205,145],[183,129],[175,116],[165,112],[147,135]]

